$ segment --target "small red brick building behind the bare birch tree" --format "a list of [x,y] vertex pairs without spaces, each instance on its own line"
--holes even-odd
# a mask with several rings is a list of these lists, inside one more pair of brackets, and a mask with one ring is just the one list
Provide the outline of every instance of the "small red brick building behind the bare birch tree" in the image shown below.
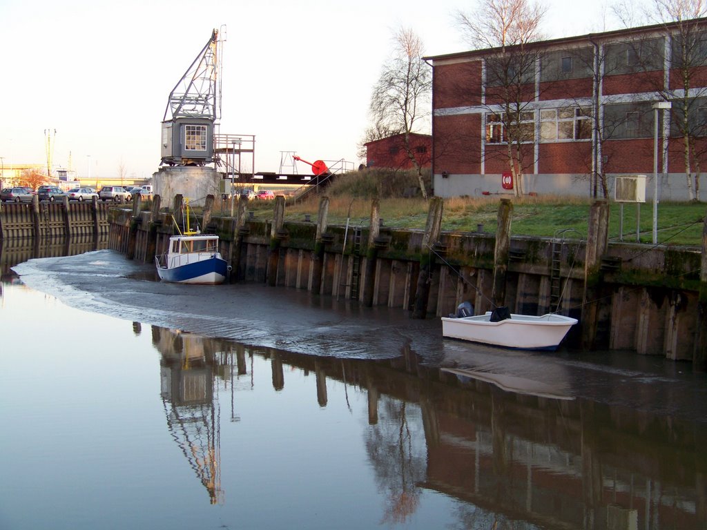
[[[432,136],[429,134],[410,135],[410,148],[420,167],[432,165]],[[395,170],[412,169],[407,149],[405,135],[396,134],[380,140],[370,141],[366,146],[366,167],[390,167]]]

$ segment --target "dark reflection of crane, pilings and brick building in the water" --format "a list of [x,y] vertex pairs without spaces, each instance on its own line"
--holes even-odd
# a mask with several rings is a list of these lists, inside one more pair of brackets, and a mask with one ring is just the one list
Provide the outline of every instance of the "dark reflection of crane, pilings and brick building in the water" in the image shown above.
[[404,524],[423,491],[433,490],[462,501],[456,517],[464,528],[707,524],[704,423],[504,391],[496,381],[423,365],[407,347],[391,360],[315,358],[157,326],[152,341],[162,356],[168,430],[212,503],[223,495],[219,399],[230,399],[230,421],[239,421],[238,380],[252,388],[260,358],[276,391],[290,374],[313,373],[312,408],[327,407],[327,382],[343,385],[347,404],[349,391],[366,394],[363,440],[385,492],[382,523]]

